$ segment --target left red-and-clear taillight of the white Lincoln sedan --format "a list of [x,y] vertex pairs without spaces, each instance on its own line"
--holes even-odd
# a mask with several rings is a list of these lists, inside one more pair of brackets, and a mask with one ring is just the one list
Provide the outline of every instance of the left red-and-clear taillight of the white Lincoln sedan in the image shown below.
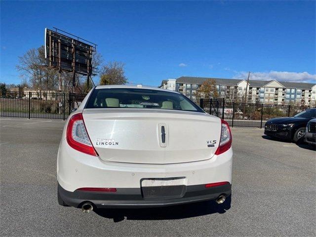
[[90,141],[81,113],[70,118],[66,137],[69,146],[75,150],[91,156],[98,156]]

